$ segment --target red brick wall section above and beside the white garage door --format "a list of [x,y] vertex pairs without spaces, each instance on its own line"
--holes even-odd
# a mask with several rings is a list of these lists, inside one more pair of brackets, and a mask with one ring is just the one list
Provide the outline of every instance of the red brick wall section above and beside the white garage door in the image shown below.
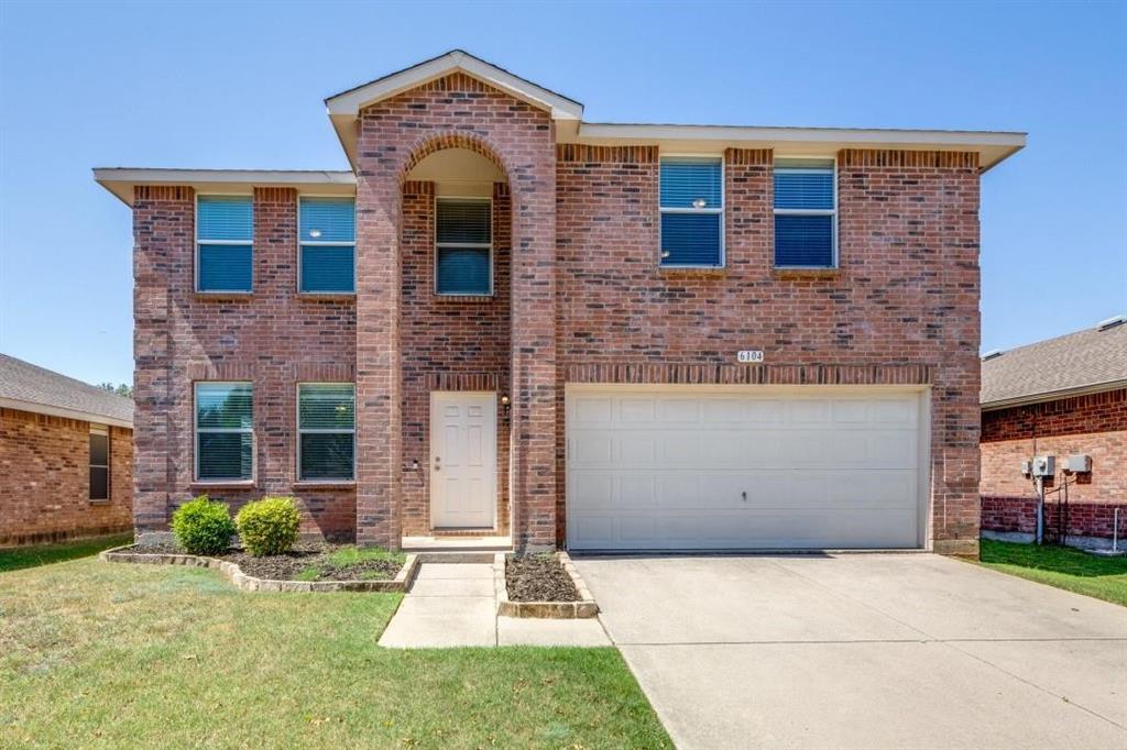
[[[818,274],[773,269],[770,151],[728,151],[727,264],[708,271],[658,268],[656,149],[558,158],[560,383],[930,384],[934,548],[975,551],[975,154],[843,151],[841,269]],[[767,364],[734,364],[743,348]],[[562,534],[562,490],[559,503]]]

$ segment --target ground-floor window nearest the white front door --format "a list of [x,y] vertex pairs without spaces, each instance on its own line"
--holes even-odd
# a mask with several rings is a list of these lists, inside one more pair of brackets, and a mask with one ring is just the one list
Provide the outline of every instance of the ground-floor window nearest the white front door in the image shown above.
[[298,386],[298,479],[350,481],[356,457],[356,387],[352,383]]

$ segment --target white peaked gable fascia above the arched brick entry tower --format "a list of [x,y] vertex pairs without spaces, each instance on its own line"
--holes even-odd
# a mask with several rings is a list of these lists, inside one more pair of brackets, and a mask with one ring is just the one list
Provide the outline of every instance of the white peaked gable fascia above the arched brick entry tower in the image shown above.
[[329,97],[325,100],[325,106],[328,108],[330,117],[337,115],[355,116],[370,104],[393,97],[397,93],[458,71],[480,79],[517,99],[547,109],[551,113],[553,119],[577,120],[583,117],[583,105],[541,88],[535,83],[525,81],[506,70],[490,65],[486,61],[461,51],[450,52],[441,57],[435,57],[414,68],[392,73],[350,91]]

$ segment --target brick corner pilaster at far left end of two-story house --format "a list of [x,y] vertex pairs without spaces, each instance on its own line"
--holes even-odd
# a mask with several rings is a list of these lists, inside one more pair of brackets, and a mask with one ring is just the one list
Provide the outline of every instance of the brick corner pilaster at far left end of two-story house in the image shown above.
[[137,186],[133,195],[133,519],[137,536],[168,529],[175,485],[174,278],[193,257],[193,190]]

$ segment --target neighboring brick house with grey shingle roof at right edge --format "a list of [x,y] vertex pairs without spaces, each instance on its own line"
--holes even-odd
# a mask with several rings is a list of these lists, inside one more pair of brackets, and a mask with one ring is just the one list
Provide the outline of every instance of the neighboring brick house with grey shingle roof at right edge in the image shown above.
[[[1127,537],[1127,318],[988,352],[982,368],[984,536],[1032,538],[1037,489],[1021,462],[1054,455],[1047,538],[1106,545],[1116,508],[1119,538]],[[1091,456],[1091,474],[1065,476],[1063,462],[1074,454]]]

